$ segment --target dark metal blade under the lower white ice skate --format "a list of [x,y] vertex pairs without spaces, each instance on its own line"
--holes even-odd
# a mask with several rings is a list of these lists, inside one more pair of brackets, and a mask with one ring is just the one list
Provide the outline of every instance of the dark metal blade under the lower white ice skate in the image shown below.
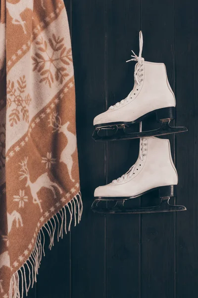
[[[94,213],[100,214],[143,214],[143,213],[161,213],[161,212],[177,212],[177,211],[185,211],[185,206],[180,205],[170,205],[170,198],[161,198],[161,203],[157,206],[150,207],[140,207],[140,208],[125,208],[124,203],[126,199],[118,199],[116,200],[99,200],[96,199],[92,204],[92,211]],[[106,202],[114,201],[115,205],[111,208],[108,207],[100,207],[99,203],[103,201],[103,204]]]

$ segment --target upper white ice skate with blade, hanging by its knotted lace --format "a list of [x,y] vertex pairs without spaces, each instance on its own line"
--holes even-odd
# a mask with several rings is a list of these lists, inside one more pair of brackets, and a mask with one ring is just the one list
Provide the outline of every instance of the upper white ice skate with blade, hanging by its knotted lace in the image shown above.
[[[187,131],[185,127],[171,127],[175,119],[175,96],[168,82],[163,63],[147,62],[142,58],[143,35],[140,31],[139,57],[132,55],[129,61],[137,61],[134,87],[129,95],[94,119],[95,141],[114,141],[141,137],[175,134]],[[128,61],[127,61],[128,62]],[[155,114],[160,128],[143,132],[130,132],[135,123]],[[107,133],[107,134],[106,134]]]

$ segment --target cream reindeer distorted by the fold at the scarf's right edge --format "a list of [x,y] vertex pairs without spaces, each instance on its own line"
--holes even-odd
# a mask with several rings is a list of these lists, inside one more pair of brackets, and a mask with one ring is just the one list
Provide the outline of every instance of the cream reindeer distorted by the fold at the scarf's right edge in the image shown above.
[[60,162],[64,162],[66,164],[69,172],[69,177],[71,181],[74,182],[75,180],[72,179],[72,174],[71,174],[72,166],[73,166],[72,154],[76,150],[77,142],[76,142],[76,136],[72,134],[70,131],[68,131],[67,129],[69,124],[70,123],[67,122],[61,125],[61,119],[57,113],[53,113],[50,115],[49,126],[51,126],[54,129],[52,132],[57,131],[58,133],[63,133],[67,138],[67,145],[60,154]]

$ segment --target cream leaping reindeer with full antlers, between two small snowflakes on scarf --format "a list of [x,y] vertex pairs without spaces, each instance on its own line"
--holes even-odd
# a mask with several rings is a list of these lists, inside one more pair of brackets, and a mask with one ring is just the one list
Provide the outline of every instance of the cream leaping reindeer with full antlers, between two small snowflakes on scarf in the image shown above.
[[56,187],[59,190],[60,194],[62,194],[62,190],[56,183],[52,182],[49,179],[48,173],[42,174],[39,178],[37,178],[37,180],[35,182],[31,182],[29,170],[27,167],[27,161],[28,161],[28,157],[25,157],[25,159],[19,163],[21,165],[21,171],[19,172],[21,174],[20,180],[27,178],[26,187],[28,187],[28,186],[30,187],[30,191],[31,191],[31,194],[33,197],[33,203],[38,204],[41,212],[43,212],[43,210],[41,208],[41,201],[39,200],[38,195],[37,195],[37,193],[40,191],[40,189],[42,187],[49,188],[52,191],[54,198],[56,198],[54,187]]

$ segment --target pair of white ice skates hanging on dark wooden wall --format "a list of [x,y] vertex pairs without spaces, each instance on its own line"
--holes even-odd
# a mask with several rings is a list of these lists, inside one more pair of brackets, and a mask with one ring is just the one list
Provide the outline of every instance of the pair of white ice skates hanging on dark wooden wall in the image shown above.
[[[178,175],[174,166],[169,140],[155,136],[187,131],[185,127],[171,127],[175,119],[175,96],[168,82],[163,63],[151,63],[142,58],[143,35],[140,32],[140,53],[129,61],[137,61],[134,87],[129,95],[94,119],[95,141],[140,138],[140,152],[136,163],[110,184],[95,190],[92,210],[98,213],[153,213],[186,210],[184,206],[169,205],[176,196]],[[156,114],[159,129],[142,131],[142,121]],[[134,123],[140,123],[139,132],[131,132]],[[105,134],[101,134],[105,132]],[[110,132],[110,133],[109,133]],[[129,199],[159,191],[161,203],[152,207],[130,208]]]

